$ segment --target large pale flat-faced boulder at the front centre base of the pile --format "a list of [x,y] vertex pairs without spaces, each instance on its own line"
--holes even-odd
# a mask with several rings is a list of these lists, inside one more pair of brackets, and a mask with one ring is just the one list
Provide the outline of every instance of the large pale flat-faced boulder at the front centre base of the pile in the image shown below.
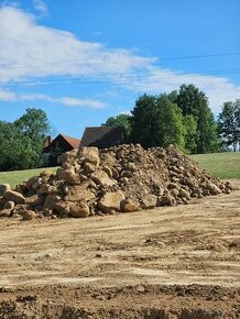
[[124,200],[124,194],[121,190],[107,193],[98,202],[99,209],[109,213],[111,210],[120,211],[121,201]]

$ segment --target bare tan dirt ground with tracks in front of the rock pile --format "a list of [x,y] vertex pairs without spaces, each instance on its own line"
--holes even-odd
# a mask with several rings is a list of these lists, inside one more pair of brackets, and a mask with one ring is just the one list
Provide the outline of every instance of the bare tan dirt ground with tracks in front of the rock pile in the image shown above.
[[0,234],[0,318],[240,318],[240,190]]

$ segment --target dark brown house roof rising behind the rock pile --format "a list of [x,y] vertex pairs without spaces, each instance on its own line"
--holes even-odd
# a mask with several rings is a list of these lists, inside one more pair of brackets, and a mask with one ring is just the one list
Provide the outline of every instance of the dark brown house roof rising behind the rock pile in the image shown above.
[[97,146],[108,148],[124,143],[124,132],[120,127],[94,127],[86,128],[80,146]]

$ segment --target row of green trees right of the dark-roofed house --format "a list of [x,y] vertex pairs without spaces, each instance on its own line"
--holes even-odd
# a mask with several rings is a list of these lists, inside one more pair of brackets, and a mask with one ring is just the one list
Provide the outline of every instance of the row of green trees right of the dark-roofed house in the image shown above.
[[194,85],[159,96],[143,95],[131,114],[109,118],[127,142],[143,147],[177,145],[188,154],[240,151],[240,99],[225,102],[215,120],[207,96]]

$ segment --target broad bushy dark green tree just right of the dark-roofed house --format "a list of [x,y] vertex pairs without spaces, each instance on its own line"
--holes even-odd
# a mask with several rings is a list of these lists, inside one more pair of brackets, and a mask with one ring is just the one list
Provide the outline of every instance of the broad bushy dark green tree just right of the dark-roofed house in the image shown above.
[[143,147],[176,144],[184,148],[184,124],[181,110],[167,97],[144,95],[132,111],[131,141]]

